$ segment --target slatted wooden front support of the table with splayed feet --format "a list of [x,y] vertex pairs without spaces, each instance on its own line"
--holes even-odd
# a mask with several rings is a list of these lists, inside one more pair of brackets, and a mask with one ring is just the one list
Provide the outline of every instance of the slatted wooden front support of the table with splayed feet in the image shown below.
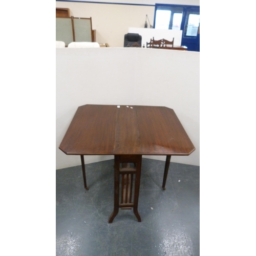
[[[110,216],[109,223],[113,222],[114,218],[118,214],[119,208],[133,208],[133,212],[138,219],[138,222],[141,222],[141,218],[138,212],[141,160],[141,155],[115,155],[114,210]],[[134,167],[130,167],[129,164],[126,163],[133,163]],[[119,194],[120,175],[122,176],[121,194]],[[134,175],[135,182],[133,182]],[[135,183],[134,189],[133,183]],[[132,202],[133,195],[134,199]]]

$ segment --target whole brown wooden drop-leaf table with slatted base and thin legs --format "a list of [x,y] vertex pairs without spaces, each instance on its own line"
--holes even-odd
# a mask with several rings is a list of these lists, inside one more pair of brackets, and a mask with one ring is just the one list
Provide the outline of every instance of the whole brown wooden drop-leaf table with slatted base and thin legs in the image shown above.
[[87,190],[84,155],[114,155],[114,210],[109,223],[113,222],[119,208],[133,208],[141,221],[138,200],[142,155],[166,156],[162,183],[165,189],[170,157],[188,156],[195,151],[172,109],[93,104],[79,106],[59,149],[67,155],[80,155]]

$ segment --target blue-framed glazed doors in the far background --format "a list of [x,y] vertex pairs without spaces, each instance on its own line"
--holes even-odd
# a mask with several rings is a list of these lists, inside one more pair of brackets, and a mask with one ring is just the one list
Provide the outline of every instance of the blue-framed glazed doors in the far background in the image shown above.
[[154,28],[182,30],[181,45],[200,51],[200,7],[156,4]]

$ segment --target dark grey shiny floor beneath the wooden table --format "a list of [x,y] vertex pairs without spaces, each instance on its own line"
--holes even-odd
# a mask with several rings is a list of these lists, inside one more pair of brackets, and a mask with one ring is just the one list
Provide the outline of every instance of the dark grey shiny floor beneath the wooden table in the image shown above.
[[138,222],[119,209],[113,223],[114,160],[56,170],[56,255],[199,255],[199,166],[142,158]]

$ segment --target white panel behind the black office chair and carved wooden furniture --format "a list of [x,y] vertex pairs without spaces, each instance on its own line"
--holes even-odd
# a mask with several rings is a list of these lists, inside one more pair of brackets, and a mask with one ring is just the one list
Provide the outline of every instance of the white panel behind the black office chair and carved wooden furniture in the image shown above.
[[128,33],[138,33],[142,36],[141,44],[146,47],[146,43],[150,42],[151,38],[155,40],[166,39],[172,41],[174,38],[174,45],[181,46],[182,30],[172,29],[145,29],[145,28],[129,28]]

